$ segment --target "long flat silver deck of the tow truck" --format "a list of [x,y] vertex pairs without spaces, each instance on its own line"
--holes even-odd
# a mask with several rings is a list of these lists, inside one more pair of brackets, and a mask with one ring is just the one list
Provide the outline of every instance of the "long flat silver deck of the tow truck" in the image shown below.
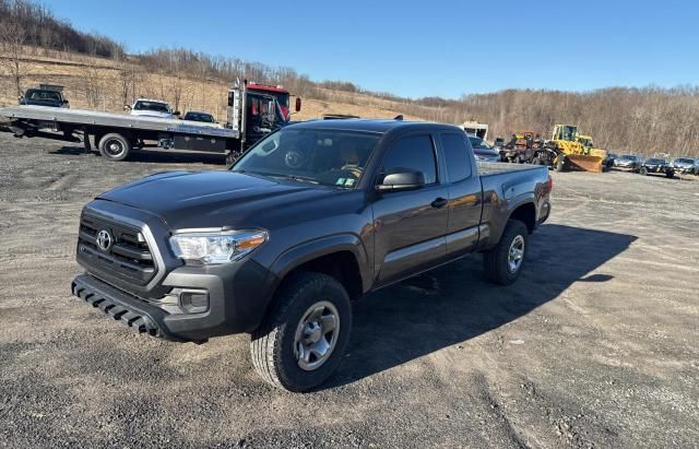
[[0,108],[0,119],[37,120],[83,126],[104,126],[147,131],[175,132],[201,137],[238,139],[238,130],[212,127],[198,121],[165,119],[157,117],[130,116],[126,114],[102,113],[87,109],[67,109],[47,106],[10,106]]

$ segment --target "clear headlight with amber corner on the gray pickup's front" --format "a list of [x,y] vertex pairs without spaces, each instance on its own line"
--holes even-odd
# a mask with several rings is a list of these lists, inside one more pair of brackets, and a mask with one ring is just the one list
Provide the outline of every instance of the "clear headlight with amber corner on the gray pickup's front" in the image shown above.
[[182,260],[215,264],[240,260],[266,239],[264,231],[190,232],[171,236],[170,247]]

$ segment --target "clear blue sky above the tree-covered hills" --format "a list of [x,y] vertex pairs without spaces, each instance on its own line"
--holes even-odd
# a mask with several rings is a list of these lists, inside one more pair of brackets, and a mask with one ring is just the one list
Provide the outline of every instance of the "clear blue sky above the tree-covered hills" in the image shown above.
[[699,84],[699,2],[43,0],[129,51],[188,47],[401,96]]

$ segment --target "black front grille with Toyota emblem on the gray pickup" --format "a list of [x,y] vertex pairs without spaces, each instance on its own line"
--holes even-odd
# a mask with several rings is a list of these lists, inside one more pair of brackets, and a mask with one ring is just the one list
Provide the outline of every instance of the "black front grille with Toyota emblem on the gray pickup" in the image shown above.
[[[104,250],[97,245],[100,231],[109,233],[111,246]],[[157,267],[141,231],[125,224],[85,216],[80,222],[78,257],[88,271],[105,273],[128,283],[145,285]]]

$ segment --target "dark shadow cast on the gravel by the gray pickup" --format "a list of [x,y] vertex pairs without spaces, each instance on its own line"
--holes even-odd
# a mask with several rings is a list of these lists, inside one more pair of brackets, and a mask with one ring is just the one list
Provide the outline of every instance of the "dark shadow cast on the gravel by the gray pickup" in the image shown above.
[[332,388],[463,343],[558,297],[574,282],[607,282],[589,274],[625,251],[637,237],[548,224],[530,240],[528,264],[510,286],[483,279],[472,255],[378,291],[354,307],[353,335]]

